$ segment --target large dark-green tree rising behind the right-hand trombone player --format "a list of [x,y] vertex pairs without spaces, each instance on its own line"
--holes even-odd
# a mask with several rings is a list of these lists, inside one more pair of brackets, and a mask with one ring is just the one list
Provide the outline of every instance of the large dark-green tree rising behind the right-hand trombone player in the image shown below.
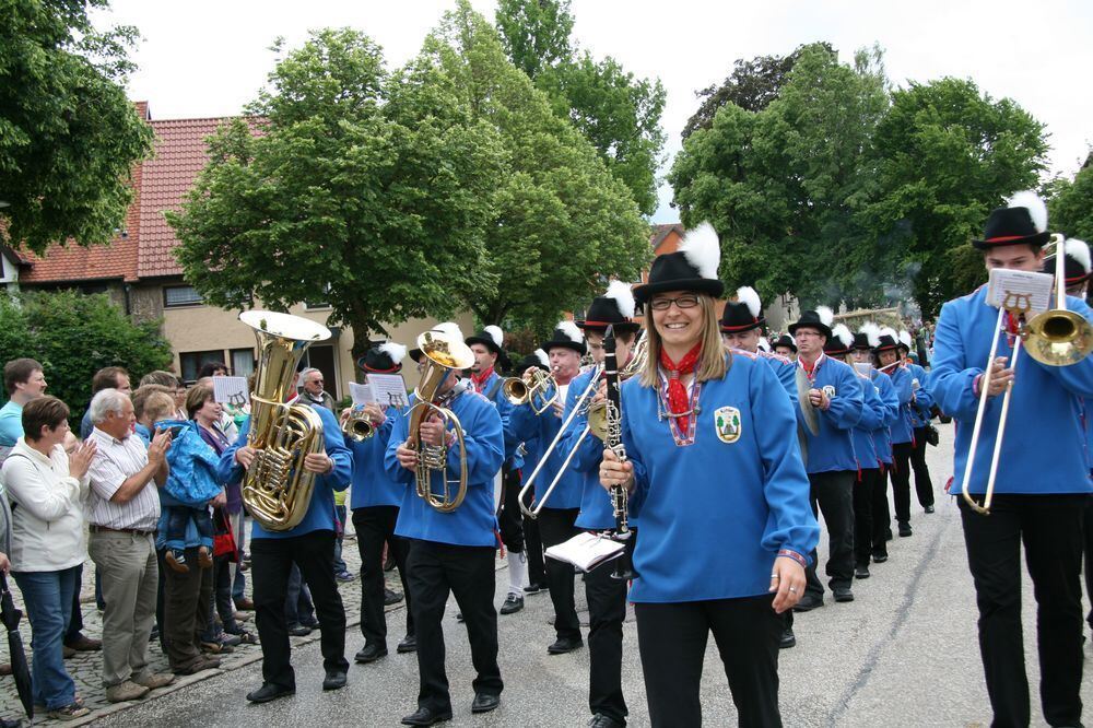
[[971,80],[895,91],[874,137],[877,190],[859,215],[867,253],[889,271],[909,265],[914,298],[933,315],[986,280],[968,242],[1006,197],[1036,186],[1046,153],[1039,121]]

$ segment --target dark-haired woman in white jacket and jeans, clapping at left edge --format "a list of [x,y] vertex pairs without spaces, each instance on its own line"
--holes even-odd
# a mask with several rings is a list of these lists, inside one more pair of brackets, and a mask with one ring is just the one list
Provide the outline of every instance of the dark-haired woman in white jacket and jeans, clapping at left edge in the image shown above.
[[72,615],[77,570],[87,556],[83,504],[87,467],[95,444],[72,455],[62,443],[69,409],[56,397],[39,397],[23,408],[23,437],[4,460],[4,490],[12,509],[11,568],[31,619],[34,702],[52,718],[89,713],[75,697],[64,669],[62,641]]

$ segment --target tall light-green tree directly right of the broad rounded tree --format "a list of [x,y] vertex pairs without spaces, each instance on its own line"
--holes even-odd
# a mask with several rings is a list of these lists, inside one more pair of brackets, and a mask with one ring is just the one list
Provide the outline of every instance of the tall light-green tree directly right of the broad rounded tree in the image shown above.
[[425,47],[506,152],[483,268],[501,283],[487,292],[455,286],[479,319],[541,330],[586,305],[603,278],[636,280],[649,255],[648,226],[628,189],[552,114],[548,97],[505,57],[497,32],[460,2]]

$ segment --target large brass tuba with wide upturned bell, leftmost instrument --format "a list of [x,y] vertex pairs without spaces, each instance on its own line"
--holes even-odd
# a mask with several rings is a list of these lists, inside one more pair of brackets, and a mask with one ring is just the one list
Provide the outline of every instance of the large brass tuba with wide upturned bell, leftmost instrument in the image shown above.
[[268,531],[295,527],[312,502],[315,473],[304,458],[322,451],[322,421],[307,404],[285,404],[299,359],[312,343],[330,338],[327,327],[299,316],[248,310],[239,320],[255,330],[258,359],[250,392],[247,446],[255,459],[243,478],[243,502]]

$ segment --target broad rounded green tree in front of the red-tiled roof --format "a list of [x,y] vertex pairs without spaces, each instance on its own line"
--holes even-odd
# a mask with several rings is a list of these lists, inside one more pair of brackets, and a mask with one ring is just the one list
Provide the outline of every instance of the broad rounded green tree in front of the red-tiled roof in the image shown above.
[[385,322],[447,316],[454,291],[496,287],[483,242],[504,153],[457,79],[426,56],[388,73],[380,48],[345,28],[312,34],[269,80],[248,109],[261,133],[243,119],[221,129],[168,215],[208,301],[329,301],[360,356]]

